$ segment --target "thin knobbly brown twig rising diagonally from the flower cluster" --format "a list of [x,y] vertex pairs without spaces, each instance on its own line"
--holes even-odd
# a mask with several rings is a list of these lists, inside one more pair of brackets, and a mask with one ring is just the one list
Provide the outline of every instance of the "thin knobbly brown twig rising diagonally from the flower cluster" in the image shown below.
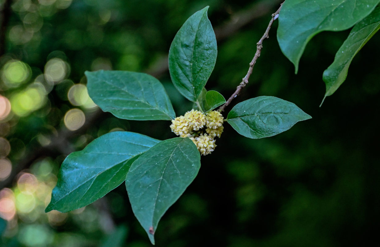
[[263,48],[263,41],[265,39],[269,38],[269,30],[271,30],[271,27],[272,27],[272,24],[273,24],[274,20],[279,17],[279,13],[280,13],[282,4],[283,4],[283,2],[281,3],[280,8],[277,9],[277,11],[272,14],[272,19],[271,19],[271,21],[269,21],[268,27],[266,28],[266,30],[264,32],[264,35],[261,37],[261,39],[259,40],[259,42],[256,43],[256,45],[257,45],[256,46],[257,47],[256,48],[256,53],[255,53],[255,56],[253,57],[252,61],[249,63],[249,69],[248,69],[247,74],[244,76],[244,78],[242,79],[242,82],[240,82],[239,86],[236,87],[236,91],[231,95],[230,98],[228,98],[228,100],[226,101],[226,103],[224,103],[222,106],[220,106],[220,108],[218,109],[219,112],[224,111],[224,108],[226,108],[226,106],[230,105],[231,101],[234,98],[236,98],[237,95],[239,95],[240,91],[245,86],[247,86],[248,79],[249,79],[250,75],[252,74],[253,66],[255,66],[257,59],[260,57],[261,49]]

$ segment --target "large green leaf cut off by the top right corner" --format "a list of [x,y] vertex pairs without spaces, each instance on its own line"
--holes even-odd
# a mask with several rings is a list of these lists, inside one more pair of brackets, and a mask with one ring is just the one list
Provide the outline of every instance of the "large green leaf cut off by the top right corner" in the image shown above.
[[380,0],[286,0],[279,15],[277,40],[283,54],[298,63],[307,42],[322,31],[341,31],[373,11]]

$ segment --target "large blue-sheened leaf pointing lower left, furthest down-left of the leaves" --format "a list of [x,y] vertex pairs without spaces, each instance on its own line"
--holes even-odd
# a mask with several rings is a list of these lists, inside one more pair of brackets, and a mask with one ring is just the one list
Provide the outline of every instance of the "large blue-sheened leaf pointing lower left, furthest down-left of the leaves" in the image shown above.
[[45,212],[84,207],[119,186],[139,155],[160,142],[138,133],[115,131],[68,155]]

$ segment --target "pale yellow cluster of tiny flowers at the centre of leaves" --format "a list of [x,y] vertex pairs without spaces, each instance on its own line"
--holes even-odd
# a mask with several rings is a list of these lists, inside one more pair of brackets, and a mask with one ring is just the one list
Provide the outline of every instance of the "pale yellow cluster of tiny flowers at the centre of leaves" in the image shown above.
[[[171,122],[171,131],[180,137],[190,137],[201,155],[214,151],[216,147],[214,138],[220,138],[223,132],[223,116],[218,111],[203,114],[201,111],[192,109]],[[203,133],[202,128],[205,126],[206,133]]]

